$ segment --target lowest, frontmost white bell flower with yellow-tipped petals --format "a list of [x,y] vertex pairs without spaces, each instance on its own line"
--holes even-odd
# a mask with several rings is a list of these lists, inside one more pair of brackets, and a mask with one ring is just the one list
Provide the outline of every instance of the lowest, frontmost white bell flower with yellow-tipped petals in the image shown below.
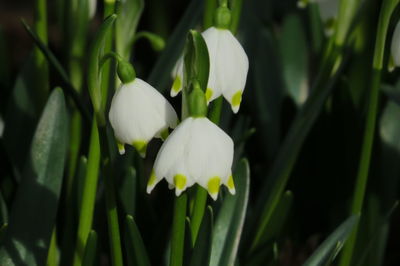
[[165,177],[176,196],[194,183],[214,200],[221,184],[234,194],[232,161],[233,141],[222,129],[205,117],[186,118],[161,146],[147,193]]

